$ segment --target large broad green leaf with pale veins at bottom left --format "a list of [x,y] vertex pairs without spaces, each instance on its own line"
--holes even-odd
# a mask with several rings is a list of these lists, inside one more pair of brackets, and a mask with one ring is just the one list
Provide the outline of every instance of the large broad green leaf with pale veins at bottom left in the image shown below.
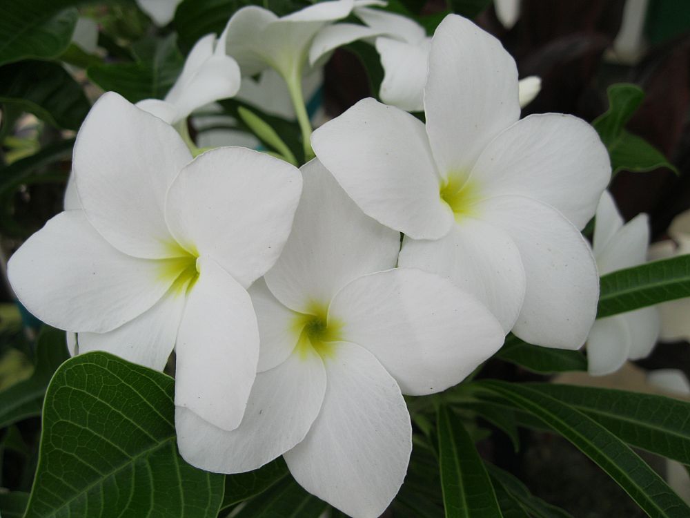
[[179,457],[174,383],[103,352],[64,363],[43,406],[26,518],[215,517],[224,477]]

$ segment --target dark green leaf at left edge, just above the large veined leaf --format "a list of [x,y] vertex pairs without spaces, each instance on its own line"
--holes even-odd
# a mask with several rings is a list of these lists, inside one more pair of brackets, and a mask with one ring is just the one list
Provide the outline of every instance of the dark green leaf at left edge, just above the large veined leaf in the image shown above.
[[52,374],[70,355],[65,332],[43,327],[36,345],[36,368],[30,378],[0,392],[0,428],[41,415]]

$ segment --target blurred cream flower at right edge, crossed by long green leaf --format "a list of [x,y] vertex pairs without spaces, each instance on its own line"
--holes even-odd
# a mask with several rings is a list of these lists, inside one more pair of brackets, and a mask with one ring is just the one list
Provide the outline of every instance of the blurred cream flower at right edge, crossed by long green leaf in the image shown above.
[[[684,256],[690,253],[690,211],[673,218],[669,227],[671,240],[654,243],[649,247],[649,260]],[[660,339],[664,342],[685,340],[690,342],[690,298],[669,300],[657,305],[661,316]]]

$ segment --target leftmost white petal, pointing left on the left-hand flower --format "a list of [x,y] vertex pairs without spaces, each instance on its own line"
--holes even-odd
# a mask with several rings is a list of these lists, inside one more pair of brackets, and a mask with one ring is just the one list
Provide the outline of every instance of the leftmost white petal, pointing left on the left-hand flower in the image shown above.
[[106,332],[132,320],[170,286],[161,263],[121,253],[81,211],[52,218],[14,252],[12,289],[43,322],[68,331]]

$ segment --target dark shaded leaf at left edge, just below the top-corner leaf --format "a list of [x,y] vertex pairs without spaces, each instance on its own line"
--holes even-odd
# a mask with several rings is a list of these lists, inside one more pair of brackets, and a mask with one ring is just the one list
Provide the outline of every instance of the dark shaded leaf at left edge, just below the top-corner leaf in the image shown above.
[[0,102],[57,126],[77,130],[91,105],[64,68],[48,61],[21,61],[0,67]]

